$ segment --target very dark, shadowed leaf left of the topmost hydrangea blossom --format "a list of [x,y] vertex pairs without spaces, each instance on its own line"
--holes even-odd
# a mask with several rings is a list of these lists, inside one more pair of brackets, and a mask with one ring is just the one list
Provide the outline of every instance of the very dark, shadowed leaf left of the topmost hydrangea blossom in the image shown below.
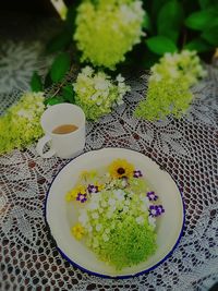
[[52,53],[65,49],[72,41],[72,35],[70,34],[70,32],[64,29],[63,32],[51,38],[46,47],[46,51],[48,53]]

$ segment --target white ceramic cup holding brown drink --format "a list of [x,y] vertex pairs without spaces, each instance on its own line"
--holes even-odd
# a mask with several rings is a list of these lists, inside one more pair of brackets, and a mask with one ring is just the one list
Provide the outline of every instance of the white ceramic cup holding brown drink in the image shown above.
[[[56,128],[64,124],[74,124],[78,129],[65,134],[52,133]],[[41,116],[41,128],[46,135],[38,141],[36,150],[43,158],[55,155],[72,158],[82,153],[85,146],[85,114],[78,106],[59,104],[49,107]],[[48,143],[50,149],[44,153]]]

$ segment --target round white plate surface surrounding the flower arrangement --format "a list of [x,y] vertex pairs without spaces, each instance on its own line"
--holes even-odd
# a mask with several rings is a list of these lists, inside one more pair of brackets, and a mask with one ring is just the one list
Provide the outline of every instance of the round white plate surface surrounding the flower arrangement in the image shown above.
[[[76,218],[76,209],[65,203],[65,193],[72,189],[83,170],[107,166],[116,158],[123,158],[141,169],[152,189],[158,194],[165,214],[157,218],[157,251],[146,262],[117,271],[100,262],[96,254],[75,240],[71,227]],[[93,275],[101,277],[128,278],[156,268],[168,258],[182,237],[184,227],[184,205],[174,181],[148,157],[125,148],[102,148],[85,153],[71,160],[55,178],[46,198],[46,221],[50,228],[59,252],[71,263]]]

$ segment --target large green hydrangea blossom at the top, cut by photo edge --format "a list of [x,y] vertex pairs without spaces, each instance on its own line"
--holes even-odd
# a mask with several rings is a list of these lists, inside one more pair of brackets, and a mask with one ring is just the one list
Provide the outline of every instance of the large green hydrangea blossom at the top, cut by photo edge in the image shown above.
[[141,41],[144,11],[142,1],[83,1],[77,10],[74,39],[82,61],[111,70]]

